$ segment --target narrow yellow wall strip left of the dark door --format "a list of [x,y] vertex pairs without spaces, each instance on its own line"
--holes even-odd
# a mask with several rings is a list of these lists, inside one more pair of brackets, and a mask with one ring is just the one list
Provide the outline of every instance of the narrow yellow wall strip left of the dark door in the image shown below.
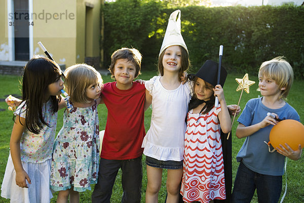
[[8,32],[6,1],[0,1],[0,8],[2,8],[2,12],[0,12],[0,26],[2,27],[0,29],[0,60],[9,60],[9,42],[6,37]]

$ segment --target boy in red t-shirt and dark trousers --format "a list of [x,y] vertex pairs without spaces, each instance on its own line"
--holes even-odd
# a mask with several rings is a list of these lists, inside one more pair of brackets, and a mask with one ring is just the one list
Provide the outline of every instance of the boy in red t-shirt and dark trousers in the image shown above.
[[110,202],[119,168],[123,172],[122,202],[140,202],[145,87],[133,82],[140,69],[141,54],[137,49],[122,48],[111,56],[109,70],[116,81],[104,84],[101,92],[108,115],[92,202]]

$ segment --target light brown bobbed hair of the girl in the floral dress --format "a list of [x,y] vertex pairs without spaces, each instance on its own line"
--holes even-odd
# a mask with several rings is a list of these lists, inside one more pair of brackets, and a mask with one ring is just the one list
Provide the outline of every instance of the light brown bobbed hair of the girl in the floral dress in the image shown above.
[[86,89],[95,83],[103,87],[102,78],[94,67],[85,63],[75,64],[64,71],[64,86],[70,96],[70,100],[78,103],[90,103]]

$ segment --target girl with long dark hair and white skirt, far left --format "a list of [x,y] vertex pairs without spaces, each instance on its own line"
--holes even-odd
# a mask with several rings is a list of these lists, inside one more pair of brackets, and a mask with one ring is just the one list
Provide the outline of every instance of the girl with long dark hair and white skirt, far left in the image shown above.
[[65,106],[62,89],[60,67],[52,60],[32,58],[25,65],[22,103],[14,113],[10,155],[1,187],[1,196],[11,202],[44,203],[53,197],[51,158],[57,111]]

